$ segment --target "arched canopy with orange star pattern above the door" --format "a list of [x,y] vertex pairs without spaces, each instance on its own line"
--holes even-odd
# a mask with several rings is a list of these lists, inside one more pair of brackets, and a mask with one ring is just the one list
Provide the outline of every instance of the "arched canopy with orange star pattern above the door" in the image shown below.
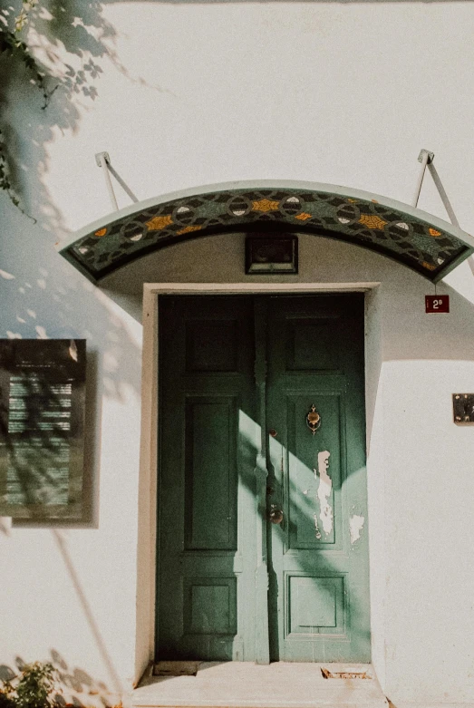
[[336,238],[436,283],[474,251],[461,229],[401,202],[312,182],[231,182],[148,199],[95,221],[61,254],[93,281],[180,241],[242,231]]

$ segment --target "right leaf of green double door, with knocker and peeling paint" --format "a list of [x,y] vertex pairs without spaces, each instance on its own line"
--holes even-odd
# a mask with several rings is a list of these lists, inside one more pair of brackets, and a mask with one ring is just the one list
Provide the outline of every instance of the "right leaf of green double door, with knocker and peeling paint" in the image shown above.
[[370,661],[363,296],[275,297],[267,314],[268,503],[284,510],[268,526],[270,656]]

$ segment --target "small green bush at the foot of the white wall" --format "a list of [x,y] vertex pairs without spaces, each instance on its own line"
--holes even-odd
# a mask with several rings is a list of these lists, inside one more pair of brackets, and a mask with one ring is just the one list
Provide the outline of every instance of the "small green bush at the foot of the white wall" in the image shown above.
[[0,708],[51,708],[53,664],[25,664],[21,674],[0,684]]

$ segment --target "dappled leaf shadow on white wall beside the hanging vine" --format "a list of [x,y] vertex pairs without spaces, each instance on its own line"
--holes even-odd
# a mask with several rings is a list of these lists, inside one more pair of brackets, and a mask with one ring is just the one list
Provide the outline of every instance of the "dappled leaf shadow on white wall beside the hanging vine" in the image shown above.
[[[99,95],[104,71],[148,84],[131,77],[121,63],[115,48],[118,35],[104,17],[101,2],[42,0],[17,35],[45,76],[44,88],[39,86],[34,69],[25,66],[22,51],[5,51],[2,34],[14,30],[21,7],[18,0],[0,0],[0,135],[11,187],[22,209],[57,236],[64,224],[44,184],[48,146],[59,135],[79,130],[82,115]],[[149,88],[160,91],[157,86]],[[26,228],[30,226],[26,222]]]

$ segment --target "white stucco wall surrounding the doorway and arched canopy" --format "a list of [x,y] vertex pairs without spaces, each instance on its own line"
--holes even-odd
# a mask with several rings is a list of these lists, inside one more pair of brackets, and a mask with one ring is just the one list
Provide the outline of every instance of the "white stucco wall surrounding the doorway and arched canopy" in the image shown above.
[[[1,519],[0,664],[54,651],[82,688],[86,672],[120,692],[150,645],[136,647],[150,558],[144,540],[138,553],[150,513],[147,480],[139,486],[141,284],[245,276],[242,238],[214,238],[147,257],[101,288],[86,282],[53,243],[109,210],[94,153],[108,150],[140,199],[231,179],[307,179],[409,201],[424,147],[472,233],[474,5],[116,2],[88,18],[103,70],[94,102],[55,94],[47,111],[34,101],[25,110],[7,87],[38,224],[0,196],[0,336],[87,337],[96,513],[89,529]],[[79,67],[63,44],[55,50]],[[420,206],[444,216],[429,177]],[[285,283],[296,280],[381,283],[368,298],[367,414],[372,635],[385,693],[397,708],[474,703],[474,438],[452,423],[450,402],[473,390],[472,273],[464,265],[440,286],[450,315],[425,315],[433,290],[420,276],[301,238],[300,274]]]

